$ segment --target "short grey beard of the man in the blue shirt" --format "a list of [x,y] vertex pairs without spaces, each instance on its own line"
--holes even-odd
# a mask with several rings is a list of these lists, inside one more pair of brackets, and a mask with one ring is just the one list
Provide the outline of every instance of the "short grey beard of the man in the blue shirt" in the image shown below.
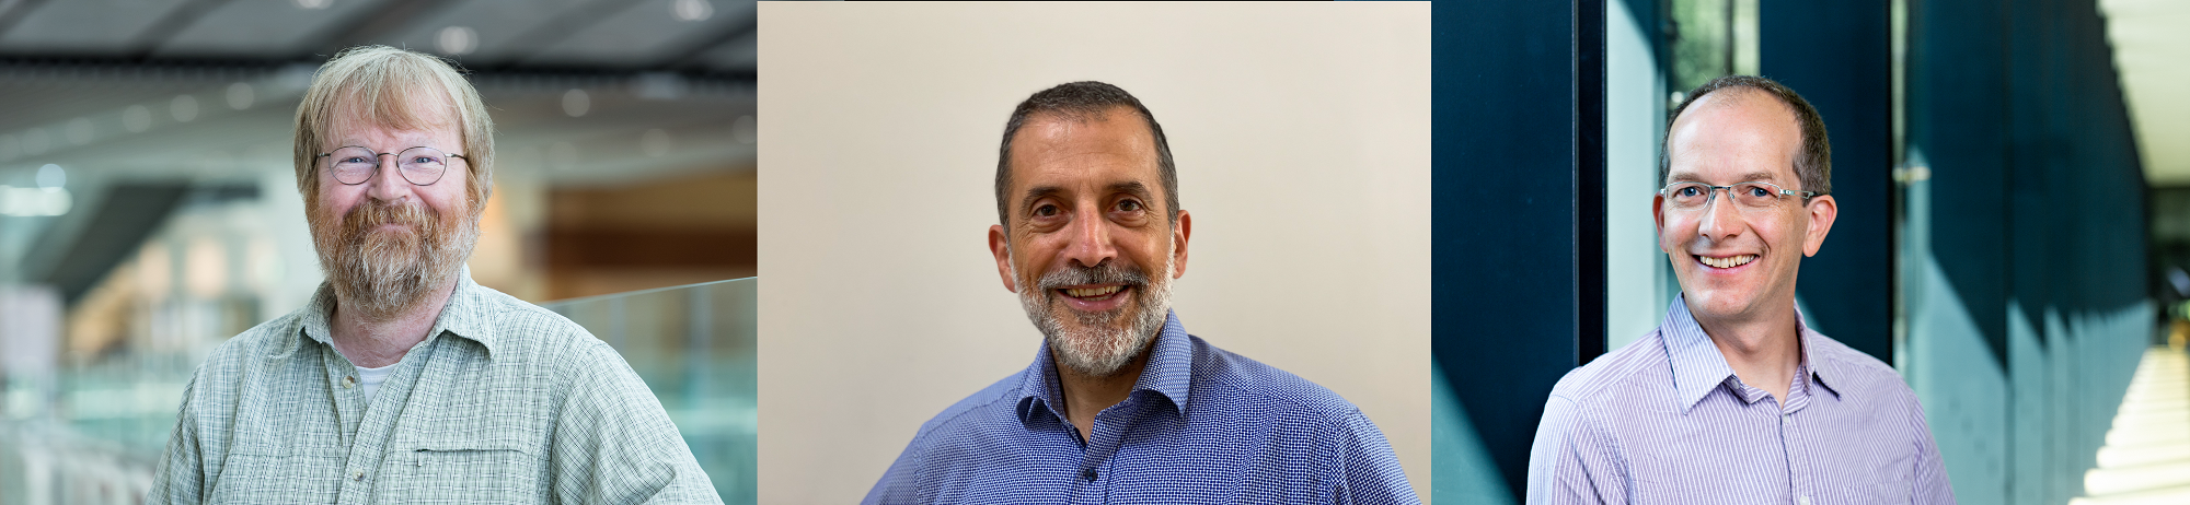
[[[1018,267],[1012,269],[1012,275],[1018,278]],[[1027,308],[1034,328],[1042,330],[1049,356],[1058,365],[1084,376],[1115,376],[1163,332],[1163,321],[1172,313],[1169,271],[1169,258],[1163,260],[1163,275],[1154,278],[1139,267],[1121,267],[1119,260],[1095,267],[1067,265],[1042,273],[1040,280],[1021,280],[1018,304]],[[1126,284],[1132,304],[1104,313],[1080,313],[1056,302],[1058,289],[1080,284]],[[1067,317],[1077,326],[1067,326]]]

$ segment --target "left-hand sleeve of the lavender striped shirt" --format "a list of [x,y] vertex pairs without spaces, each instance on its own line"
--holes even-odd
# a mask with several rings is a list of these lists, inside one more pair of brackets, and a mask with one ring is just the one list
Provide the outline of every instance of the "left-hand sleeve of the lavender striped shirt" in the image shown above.
[[1627,503],[1627,468],[1612,435],[1564,396],[1544,402],[1529,446],[1529,505]]

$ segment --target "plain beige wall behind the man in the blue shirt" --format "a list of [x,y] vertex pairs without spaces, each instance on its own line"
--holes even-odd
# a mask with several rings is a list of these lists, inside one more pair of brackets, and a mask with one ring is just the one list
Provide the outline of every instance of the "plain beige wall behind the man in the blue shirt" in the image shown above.
[[1174,308],[1360,404],[1430,490],[1430,2],[760,2],[760,501],[854,503],[1040,332],[988,254],[1027,94],[1141,98],[1194,212]]

